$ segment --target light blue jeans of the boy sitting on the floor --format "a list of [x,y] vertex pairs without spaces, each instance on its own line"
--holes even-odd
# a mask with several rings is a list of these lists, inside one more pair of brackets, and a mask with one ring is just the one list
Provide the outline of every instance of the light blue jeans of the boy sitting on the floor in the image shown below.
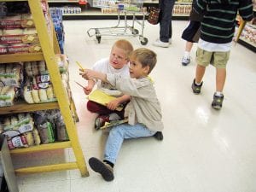
[[156,131],[150,131],[143,124],[129,125],[122,124],[113,127],[108,136],[105,146],[104,160],[108,160],[115,164],[119,150],[125,139],[138,137],[151,137]]

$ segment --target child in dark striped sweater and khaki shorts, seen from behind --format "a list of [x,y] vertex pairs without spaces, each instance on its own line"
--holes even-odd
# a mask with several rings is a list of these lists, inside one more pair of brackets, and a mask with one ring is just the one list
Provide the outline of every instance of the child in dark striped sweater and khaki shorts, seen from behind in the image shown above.
[[216,67],[216,91],[212,108],[222,108],[226,64],[230,58],[230,48],[236,27],[236,14],[243,20],[253,19],[251,0],[197,0],[194,7],[198,14],[204,14],[201,21],[201,38],[196,51],[197,67],[192,90],[201,93],[202,79],[209,63]]

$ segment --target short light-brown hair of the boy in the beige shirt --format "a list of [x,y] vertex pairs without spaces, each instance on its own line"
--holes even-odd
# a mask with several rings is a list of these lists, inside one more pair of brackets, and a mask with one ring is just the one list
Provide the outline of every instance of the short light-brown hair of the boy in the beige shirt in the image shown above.
[[154,53],[154,51],[146,48],[139,48],[133,50],[129,57],[136,58],[137,61],[139,61],[142,64],[143,67],[148,66],[148,74],[151,73],[157,61],[156,54]]

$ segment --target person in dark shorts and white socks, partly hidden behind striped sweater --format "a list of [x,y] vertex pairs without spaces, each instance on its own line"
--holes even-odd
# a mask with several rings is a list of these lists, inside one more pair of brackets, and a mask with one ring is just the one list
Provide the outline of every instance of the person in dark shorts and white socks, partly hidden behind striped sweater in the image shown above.
[[189,25],[185,28],[182,34],[182,38],[186,40],[185,52],[183,55],[182,64],[183,66],[187,66],[190,63],[190,51],[193,47],[194,43],[197,43],[200,37],[200,30],[201,30],[201,20],[202,15],[199,15],[193,9],[196,0],[192,2],[192,9],[189,15]]

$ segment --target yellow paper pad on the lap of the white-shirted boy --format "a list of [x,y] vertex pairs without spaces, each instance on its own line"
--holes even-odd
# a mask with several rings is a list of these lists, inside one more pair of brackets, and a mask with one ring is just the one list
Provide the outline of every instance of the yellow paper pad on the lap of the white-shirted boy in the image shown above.
[[[96,103],[106,106],[108,102],[112,102],[113,100],[116,99],[116,97],[109,96],[107,93],[104,93],[102,90],[94,90],[90,93],[90,95],[88,96],[88,99],[91,102],[96,102]],[[118,108],[116,108],[116,110],[118,110],[118,111],[121,111],[122,109],[123,108],[120,106]]]

